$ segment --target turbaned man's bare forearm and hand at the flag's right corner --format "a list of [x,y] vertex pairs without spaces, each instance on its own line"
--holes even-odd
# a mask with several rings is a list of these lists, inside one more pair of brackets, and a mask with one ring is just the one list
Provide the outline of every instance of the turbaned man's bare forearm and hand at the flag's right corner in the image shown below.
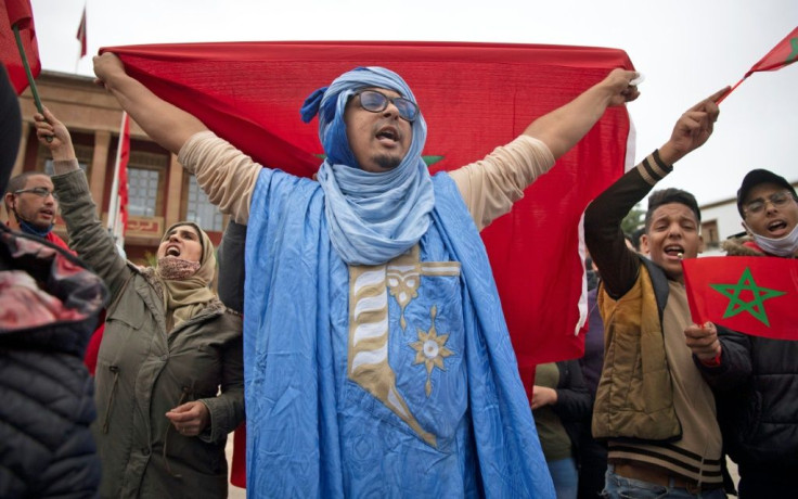
[[635,72],[613,69],[569,103],[532,121],[524,135],[542,141],[554,159],[559,158],[593,128],[607,107],[622,105],[640,95],[636,87],[630,85],[638,76]]

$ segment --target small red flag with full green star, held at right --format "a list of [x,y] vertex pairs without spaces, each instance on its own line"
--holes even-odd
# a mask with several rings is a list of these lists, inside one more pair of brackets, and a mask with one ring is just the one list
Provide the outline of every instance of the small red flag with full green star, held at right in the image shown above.
[[682,261],[693,322],[798,340],[798,259],[722,256]]

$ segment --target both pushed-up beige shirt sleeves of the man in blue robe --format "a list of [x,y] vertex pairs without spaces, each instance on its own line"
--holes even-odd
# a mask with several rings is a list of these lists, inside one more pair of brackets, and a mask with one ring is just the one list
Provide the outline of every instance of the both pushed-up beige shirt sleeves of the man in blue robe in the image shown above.
[[[196,176],[200,187],[222,213],[230,214],[237,223],[247,222],[261,165],[211,131],[192,136],[178,161]],[[524,197],[524,190],[552,166],[554,156],[543,142],[520,136],[449,175],[482,230],[509,213],[513,203]]]

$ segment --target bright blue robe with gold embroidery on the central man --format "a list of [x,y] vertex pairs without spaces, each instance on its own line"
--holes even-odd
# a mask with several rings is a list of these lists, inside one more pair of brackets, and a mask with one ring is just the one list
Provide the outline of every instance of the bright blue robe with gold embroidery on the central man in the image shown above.
[[411,254],[349,268],[319,184],[260,172],[245,258],[250,497],[554,497],[485,246],[451,178],[434,189]]

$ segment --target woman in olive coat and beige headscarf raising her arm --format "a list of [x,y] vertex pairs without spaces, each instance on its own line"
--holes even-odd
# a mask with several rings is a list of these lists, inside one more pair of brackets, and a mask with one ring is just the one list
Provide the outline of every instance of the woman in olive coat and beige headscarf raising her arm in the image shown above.
[[112,296],[92,428],[101,496],[227,497],[227,435],[244,419],[242,322],[209,287],[214,244],[181,221],[165,231],[155,267],[126,261],[96,217],[69,131],[47,108],[34,119],[53,154],[69,244]]

